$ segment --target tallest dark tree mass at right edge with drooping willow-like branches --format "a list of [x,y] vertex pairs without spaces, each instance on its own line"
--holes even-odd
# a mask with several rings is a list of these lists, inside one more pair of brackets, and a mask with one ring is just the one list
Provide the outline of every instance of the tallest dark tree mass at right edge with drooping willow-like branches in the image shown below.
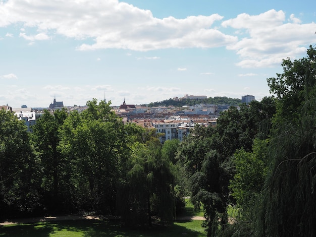
[[315,62],[316,50],[310,46],[306,57],[284,60],[284,73],[268,79],[278,104],[262,203],[266,215],[258,218],[259,229],[266,230],[262,236],[316,234]]

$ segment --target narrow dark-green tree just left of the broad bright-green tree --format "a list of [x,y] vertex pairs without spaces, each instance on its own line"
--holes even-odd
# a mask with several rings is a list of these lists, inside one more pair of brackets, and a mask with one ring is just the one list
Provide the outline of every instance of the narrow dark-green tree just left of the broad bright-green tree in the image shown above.
[[61,185],[64,181],[67,162],[58,150],[59,129],[66,117],[65,109],[56,110],[54,113],[45,110],[33,126],[32,139],[40,159],[44,201],[46,208],[50,211],[60,211],[67,207]]

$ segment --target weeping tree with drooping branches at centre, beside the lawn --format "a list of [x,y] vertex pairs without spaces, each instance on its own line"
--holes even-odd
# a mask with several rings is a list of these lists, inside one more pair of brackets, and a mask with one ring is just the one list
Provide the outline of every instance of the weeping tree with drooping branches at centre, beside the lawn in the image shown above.
[[[168,156],[162,156],[162,145],[154,130],[127,126],[130,156],[126,179],[118,193],[118,211],[128,225],[151,225],[152,215],[171,221],[174,214],[174,177]],[[137,136],[130,136],[136,131]],[[141,132],[141,133],[140,133]],[[151,136],[148,136],[151,134]]]

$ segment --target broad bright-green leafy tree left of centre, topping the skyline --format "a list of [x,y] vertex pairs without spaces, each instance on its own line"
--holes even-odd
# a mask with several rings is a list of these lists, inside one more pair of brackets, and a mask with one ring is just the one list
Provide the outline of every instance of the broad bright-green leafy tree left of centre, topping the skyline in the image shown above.
[[78,208],[113,213],[124,163],[123,123],[110,103],[87,102],[81,114],[72,112],[62,128],[60,150],[71,166],[71,190]]

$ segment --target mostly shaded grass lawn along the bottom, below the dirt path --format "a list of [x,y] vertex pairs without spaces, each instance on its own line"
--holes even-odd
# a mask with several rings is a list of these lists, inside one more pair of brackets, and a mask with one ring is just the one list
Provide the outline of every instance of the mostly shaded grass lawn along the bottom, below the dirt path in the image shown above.
[[132,229],[121,226],[119,221],[113,220],[65,220],[1,226],[0,236],[206,236],[199,231],[187,227],[190,222],[193,223],[192,221],[178,221],[170,224],[170,226],[154,225],[150,228]]

